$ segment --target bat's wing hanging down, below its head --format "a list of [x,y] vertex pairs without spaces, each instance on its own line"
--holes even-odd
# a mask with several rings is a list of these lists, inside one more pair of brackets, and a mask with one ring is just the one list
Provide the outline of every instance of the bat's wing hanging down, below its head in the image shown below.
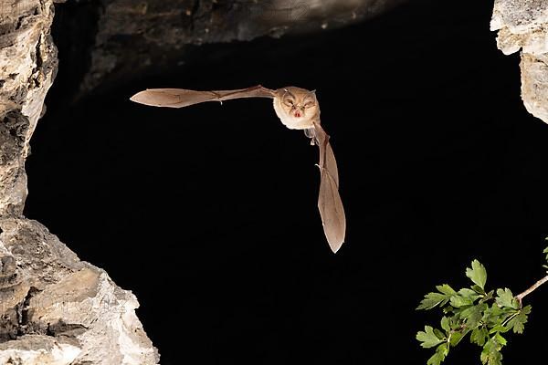
[[315,139],[320,148],[320,196],[318,209],[320,210],[323,232],[327,242],[336,253],[344,242],[346,233],[346,216],[339,195],[339,172],[337,162],[329,142],[329,135],[321,128],[320,123],[314,122]]

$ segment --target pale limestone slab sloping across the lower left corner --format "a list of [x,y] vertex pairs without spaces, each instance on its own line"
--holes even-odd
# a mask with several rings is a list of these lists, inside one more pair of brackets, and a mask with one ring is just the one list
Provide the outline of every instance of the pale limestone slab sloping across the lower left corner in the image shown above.
[[0,363],[157,363],[130,291],[36,221],[6,218],[0,228]]

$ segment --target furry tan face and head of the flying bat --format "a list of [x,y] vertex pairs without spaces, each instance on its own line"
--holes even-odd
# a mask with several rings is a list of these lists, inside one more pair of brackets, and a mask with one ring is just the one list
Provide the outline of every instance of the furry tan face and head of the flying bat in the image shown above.
[[291,130],[311,128],[313,121],[319,121],[320,117],[316,94],[295,87],[276,90],[274,110],[279,120]]

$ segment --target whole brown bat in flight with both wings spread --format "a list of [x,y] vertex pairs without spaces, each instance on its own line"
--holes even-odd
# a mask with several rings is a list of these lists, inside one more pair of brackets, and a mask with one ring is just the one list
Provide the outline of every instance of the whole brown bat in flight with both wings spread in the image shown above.
[[206,101],[230,99],[274,99],[274,111],[281,123],[290,130],[304,130],[312,145],[320,150],[320,192],[318,209],[323,232],[333,253],[341,248],[346,232],[346,217],[339,194],[339,172],[330,143],[330,136],[321,128],[320,105],[315,90],[287,87],[267,89],[260,85],[247,89],[196,91],[187,89],[146,89],[131,100],[144,105],[183,108]]

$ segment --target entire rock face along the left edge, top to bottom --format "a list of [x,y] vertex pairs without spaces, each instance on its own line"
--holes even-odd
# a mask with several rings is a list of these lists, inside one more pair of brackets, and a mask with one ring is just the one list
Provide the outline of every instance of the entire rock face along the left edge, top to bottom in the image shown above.
[[137,299],[26,219],[25,160],[58,60],[51,0],[0,3],[0,363],[156,364]]

